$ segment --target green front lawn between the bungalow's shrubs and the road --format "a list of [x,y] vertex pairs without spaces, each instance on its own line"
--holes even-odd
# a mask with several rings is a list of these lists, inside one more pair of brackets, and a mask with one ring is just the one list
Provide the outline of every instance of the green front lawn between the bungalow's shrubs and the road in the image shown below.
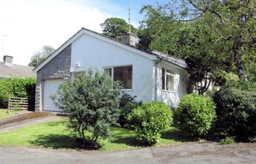
[[[61,119],[20,128],[0,134],[0,145],[18,147],[43,147],[53,149],[81,149],[73,134],[67,130],[67,120]],[[135,132],[124,128],[111,127],[111,139],[99,138],[99,151],[135,149],[141,146],[135,140]],[[157,146],[187,142],[187,138],[176,128],[170,128],[162,135]]]

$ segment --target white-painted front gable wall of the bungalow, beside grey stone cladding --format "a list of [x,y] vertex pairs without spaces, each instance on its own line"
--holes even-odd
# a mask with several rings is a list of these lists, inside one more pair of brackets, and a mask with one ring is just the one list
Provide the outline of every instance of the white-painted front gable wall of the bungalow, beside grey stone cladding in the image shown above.
[[136,95],[138,101],[154,100],[153,60],[87,34],[72,43],[71,54],[71,72],[132,65],[132,90],[124,92]]

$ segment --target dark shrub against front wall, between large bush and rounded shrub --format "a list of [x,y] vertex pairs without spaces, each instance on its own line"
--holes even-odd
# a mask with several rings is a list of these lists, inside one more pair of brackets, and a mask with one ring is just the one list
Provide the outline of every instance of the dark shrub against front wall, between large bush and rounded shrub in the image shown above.
[[120,108],[120,116],[118,118],[118,123],[124,127],[129,127],[128,115],[132,112],[133,109],[142,105],[142,102],[135,101],[135,97],[127,93],[123,93],[120,98],[119,108]]

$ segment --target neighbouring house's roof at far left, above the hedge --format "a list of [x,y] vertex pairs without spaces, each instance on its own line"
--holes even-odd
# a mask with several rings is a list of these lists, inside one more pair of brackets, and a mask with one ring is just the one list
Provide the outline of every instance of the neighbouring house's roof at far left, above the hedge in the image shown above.
[[36,77],[36,74],[32,72],[34,67],[21,66],[18,64],[12,64],[7,66],[4,62],[0,62],[0,79],[5,77]]

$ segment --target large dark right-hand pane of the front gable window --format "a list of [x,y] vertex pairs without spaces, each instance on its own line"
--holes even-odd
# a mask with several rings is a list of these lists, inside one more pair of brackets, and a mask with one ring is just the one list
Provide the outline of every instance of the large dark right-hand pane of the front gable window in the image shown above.
[[114,80],[120,81],[124,89],[132,89],[132,66],[114,67]]

